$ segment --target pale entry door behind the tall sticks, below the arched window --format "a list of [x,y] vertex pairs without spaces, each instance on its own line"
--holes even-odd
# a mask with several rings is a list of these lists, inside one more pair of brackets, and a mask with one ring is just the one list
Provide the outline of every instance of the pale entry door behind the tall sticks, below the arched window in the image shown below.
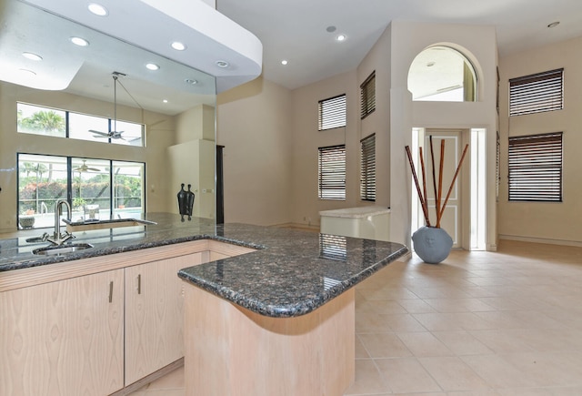
[[[433,160],[431,156],[430,149],[430,136],[433,140],[433,153],[435,157],[435,168],[433,172]],[[443,161],[443,172],[441,183],[439,183],[440,174],[440,157],[441,157],[441,141],[445,142],[444,147],[444,161]],[[440,189],[440,207],[443,207],[445,200],[447,199],[447,206],[443,211],[440,219],[440,227],[444,228],[448,235],[453,239],[453,248],[461,247],[461,191],[462,191],[462,178],[461,172],[459,172],[453,188],[451,187],[451,182],[457,171],[458,162],[461,159],[463,153],[461,144],[461,131],[445,131],[436,129],[426,129],[425,141],[423,145],[423,153],[425,160],[426,169],[426,196],[428,204],[428,214],[430,218],[430,225],[435,227],[437,225],[437,197],[438,191]],[[465,160],[468,160],[466,157]],[[462,169],[462,168],[461,168]],[[435,178],[433,178],[433,174]],[[436,181],[436,183],[433,182]],[[439,188],[440,184],[440,188]],[[435,195],[435,190],[437,194]]]

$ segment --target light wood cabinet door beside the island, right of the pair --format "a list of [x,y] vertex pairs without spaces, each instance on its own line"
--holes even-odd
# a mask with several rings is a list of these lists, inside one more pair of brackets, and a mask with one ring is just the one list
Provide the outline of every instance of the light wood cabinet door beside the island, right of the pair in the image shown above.
[[125,386],[184,357],[184,291],[177,272],[201,253],[125,269]]

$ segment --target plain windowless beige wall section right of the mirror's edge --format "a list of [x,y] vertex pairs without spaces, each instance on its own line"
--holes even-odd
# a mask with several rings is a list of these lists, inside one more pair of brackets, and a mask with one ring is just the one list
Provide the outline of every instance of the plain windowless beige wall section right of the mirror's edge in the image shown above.
[[216,98],[225,222],[287,223],[292,206],[291,93],[259,77]]

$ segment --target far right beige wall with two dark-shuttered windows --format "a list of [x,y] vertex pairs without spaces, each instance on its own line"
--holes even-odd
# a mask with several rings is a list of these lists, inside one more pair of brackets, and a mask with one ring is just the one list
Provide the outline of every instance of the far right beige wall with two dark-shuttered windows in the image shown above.
[[[508,117],[508,79],[564,67],[564,109]],[[504,56],[501,76],[499,237],[582,245],[582,37]],[[563,202],[507,201],[507,137],[563,131]]]

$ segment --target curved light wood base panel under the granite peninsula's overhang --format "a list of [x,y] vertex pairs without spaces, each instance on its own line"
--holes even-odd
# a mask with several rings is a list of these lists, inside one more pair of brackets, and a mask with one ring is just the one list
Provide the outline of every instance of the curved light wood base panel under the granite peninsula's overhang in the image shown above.
[[186,288],[188,396],[341,395],[355,378],[355,292],[272,318]]

